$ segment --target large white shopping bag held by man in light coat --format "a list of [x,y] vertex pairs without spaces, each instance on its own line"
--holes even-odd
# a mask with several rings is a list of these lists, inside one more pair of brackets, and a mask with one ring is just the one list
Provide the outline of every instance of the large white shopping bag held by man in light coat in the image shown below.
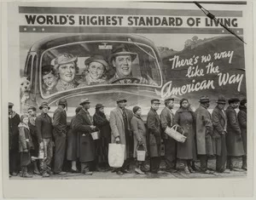
[[125,145],[110,143],[108,145],[108,163],[110,167],[121,168],[125,161]]

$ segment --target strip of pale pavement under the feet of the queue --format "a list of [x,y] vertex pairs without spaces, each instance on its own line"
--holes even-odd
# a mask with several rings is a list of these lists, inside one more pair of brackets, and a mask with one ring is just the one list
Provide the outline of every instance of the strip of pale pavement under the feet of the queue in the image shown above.
[[[148,166],[148,162],[147,166]],[[148,166],[149,167],[149,166]],[[48,178],[43,178],[41,175],[33,175],[32,180],[86,180],[86,179],[222,179],[222,178],[246,178],[247,171],[241,169],[241,159],[238,159],[235,163],[236,171],[229,171],[227,173],[217,173],[215,169],[215,159],[210,159],[208,161],[208,168],[211,170],[212,174],[202,174],[200,172],[200,163],[195,162],[195,167],[198,169],[193,174],[185,174],[183,172],[183,166],[181,163],[177,163],[177,173],[167,173],[164,171],[165,163],[160,164],[159,174],[136,174],[134,172],[134,165],[131,165],[131,174],[124,174],[119,176],[116,173],[108,172],[94,172],[92,175],[84,174],[72,174],[67,172],[65,175],[52,174]],[[22,180],[27,178],[22,178],[20,176],[10,177],[10,180]]]

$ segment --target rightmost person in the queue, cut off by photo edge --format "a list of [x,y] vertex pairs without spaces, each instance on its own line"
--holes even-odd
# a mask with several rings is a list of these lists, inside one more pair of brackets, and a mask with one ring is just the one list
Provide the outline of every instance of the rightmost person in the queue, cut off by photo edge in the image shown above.
[[241,169],[247,170],[247,99],[241,100],[239,110],[237,118],[241,129],[241,139],[244,150]]

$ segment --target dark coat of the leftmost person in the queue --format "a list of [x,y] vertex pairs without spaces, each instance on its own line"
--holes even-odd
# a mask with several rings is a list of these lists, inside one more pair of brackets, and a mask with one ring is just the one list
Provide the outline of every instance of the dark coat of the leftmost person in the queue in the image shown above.
[[13,111],[9,116],[9,150],[19,150],[19,129],[20,116]]

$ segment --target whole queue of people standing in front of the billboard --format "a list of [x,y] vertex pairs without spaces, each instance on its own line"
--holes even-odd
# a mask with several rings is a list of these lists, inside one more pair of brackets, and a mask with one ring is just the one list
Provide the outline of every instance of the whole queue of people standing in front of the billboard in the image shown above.
[[[96,112],[90,116],[90,101],[81,100],[67,129],[67,100],[61,99],[51,119],[49,105],[44,102],[37,117],[35,107],[28,108],[28,114],[21,117],[13,111],[9,103],[9,174],[17,175],[21,169],[22,177],[32,177],[27,166],[33,163],[34,174],[49,177],[51,174],[67,174],[62,171],[67,150],[67,160],[72,163],[71,172],[93,174],[101,168],[107,171],[108,144],[125,145],[125,163],[119,169],[113,169],[119,175],[130,173],[131,161],[137,157],[137,147],[143,146],[150,157],[150,172],[160,172],[161,141],[165,146],[166,171],[177,171],[177,160],[183,163],[186,174],[194,173],[195,161],[199,158],[202,173],[212,173],[207,168],[209,157],[216,156],[216,171],[236,170],[234,161],[242,157],[242,169],[247,170],[247,100],[236,98],[226,100],[219,96],[212,114],[207,110],[209,98],[202,96],[200,106],[195,110],[189,106],[189,100],[180,100],[180,107],[174,113],[174,99],[165,100],[165,108],[159,109],[160,100],[151,100],[147,122],[142,119],[142,108],[134,106],[126,109],[127,100],[119,96],[117,107],[104,114],[104,106],[96,104]],[[236,108],[240,111],[236,114]],[[165,134],[167,127],[177,124],[177,131],[186,136],[183,143],[177,142]],[[91,133],[99,131],[100,139],[93,140]],[[55,149],[55,151],[53,151]],[[20,152],[20,157],[19,157]],[[53,168],[52,160],[54,156]],[[20,160],[20,164],[18,163]],[[79,165],[80,163],[80,165]],[[20,166],[20,167],[19,167]],[[80,172],[78,169],[81,169]],[[148,169],[145,162],[136,161],[137,174],[145,174]]]

